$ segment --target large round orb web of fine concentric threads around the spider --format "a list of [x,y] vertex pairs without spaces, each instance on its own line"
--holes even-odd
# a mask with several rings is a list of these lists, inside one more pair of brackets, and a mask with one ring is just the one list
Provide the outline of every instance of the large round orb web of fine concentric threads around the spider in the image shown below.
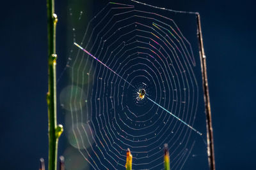
[[[163,169],[168,143],[171,169],[207,169],[195,13],[136,1],[92,6],[70,42],[91,55],[72,45],[60,94],[68,141],[84,168],[125,169],[130,148],[132,169]],[[141,89],[147,96],[139,100]]]

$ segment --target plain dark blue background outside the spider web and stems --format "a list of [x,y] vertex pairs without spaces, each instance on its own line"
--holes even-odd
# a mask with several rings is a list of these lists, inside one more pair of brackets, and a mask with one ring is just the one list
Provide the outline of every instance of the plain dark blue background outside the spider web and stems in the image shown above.
[[[255,168],[255,3],[145,1],[201,15],[217,169]],[[58,55],[65,56],[67,1],[56,1]],[[47,159],[45,1],[1,3],[0,169],[38,169]],[[65,35],[65,36],[63,36]],[[59,59],[59,67],[65,61]],[[61,70],[58,70],[60,73]],[[62,123],[61,118],[58,122]],[[62,137],[63,138],[63,137]],[[64,140],[60,139],[60,154]]]

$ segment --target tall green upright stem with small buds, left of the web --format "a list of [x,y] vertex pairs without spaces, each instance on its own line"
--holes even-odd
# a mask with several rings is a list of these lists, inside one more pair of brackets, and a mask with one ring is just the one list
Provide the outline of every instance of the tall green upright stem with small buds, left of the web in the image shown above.
[[56,108],[56,24],[57,15],[54,13],[54,0],[47,0],[48,18],[48,132],[49,132],[49,160],[48,169],[57,169],[58,138],[63,131],[62,125],[57,125]]

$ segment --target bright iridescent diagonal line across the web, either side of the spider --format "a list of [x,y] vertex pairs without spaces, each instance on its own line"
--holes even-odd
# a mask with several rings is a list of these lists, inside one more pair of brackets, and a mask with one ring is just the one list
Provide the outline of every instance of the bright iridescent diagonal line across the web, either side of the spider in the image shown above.
[[[118,77],[120,77],[122,80],[124,80],[126,83],[128,83],[129,85],[131,85],[131,87],[133,87],[135,89],[135,87],[129,83],[129,81],[125,80],[124,78],[122,78],[122,76],[120,76],[118,73],[116,73],[115,71],[113,71],[113,69],[111,69],[110,67],[108,67],[106,64],[104,64],[102,61],[100,61],[99,59],[97,59],[94,55],[92,55],[92,53],[88,52],[87,50],[85,50],[82,46],[78,45],[77,43],[74,43],[74,45],[76,45],[78,48],[80,48],[81,50],[83,50],[84,52],[86,52],[88,55],[90,55],[91,57],[93,57],[93,59],[97,60],[98,62],[100,62],[100,64],[102,64],[103,66],[105,66],[106,68],[108,68],[110,71],[112,71],[113,73],[115,73]],[[163,106],[161,106],[160,104],[157,104],[155,101],[153,101],[152,99],[150,99],[147,94],[146,96],[148,98],[148,100],[152,101],[152,103],[156,104],[157,106],[159,106],[160,108],[162,108],[164,111],[166,111],[167,113],[169,113],[170,115],[172,115],[173,117],[177,118],[177,120],[179,120],[180,122],[182,122],[182,124],[186,125],[187,127],[189,127],[190,129],[192,129],[193,131],[195,131],[197,134],[199,134],[200,136],[202,136],[202,133],[197,131],[195,128],[193,128],[191,125],[187,124],[186,122],[184,122],[183,120],[181,120],[179,117],[175,116],[173,113],[171,113],[170,111],[166,110],[165,108],[163,108]]]

